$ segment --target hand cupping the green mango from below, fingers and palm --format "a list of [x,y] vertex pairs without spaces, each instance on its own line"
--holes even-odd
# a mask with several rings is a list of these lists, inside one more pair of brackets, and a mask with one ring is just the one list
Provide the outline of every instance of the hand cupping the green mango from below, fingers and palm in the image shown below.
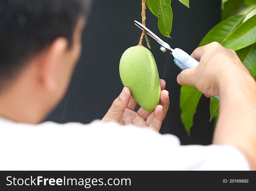
[[131,97],[129,88],[124,87],[101,121],[105,123],[115,122],[120,125],[133,124],[138,127],[146,127],[159,132],[170,103],[169,93],[164,90],[165,81],[162,79],[160,80],[160,86],[162,90],[160,94],[160,102],[153,112],[146,111],[143,108],[140,108],[135,112],[134,109],[137,102]]

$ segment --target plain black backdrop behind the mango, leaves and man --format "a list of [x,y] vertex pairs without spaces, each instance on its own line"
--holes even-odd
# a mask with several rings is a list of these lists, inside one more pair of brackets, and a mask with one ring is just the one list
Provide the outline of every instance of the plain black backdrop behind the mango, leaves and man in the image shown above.
[[[85,0],[86,1],[86,0]],[[163,37],[157,27],[157,17],[146,10],[146,26],[170,44],[192,53],[205,34],[220,21],[221,0],[191,0],[190,9],[178,0],[172,0],[172,39]],[[141,22],[141,0],[94,0],[87,26],[83,32],[83,50],[75,69],[70,88],[59,106],[46,120],[58,123],[90,123],[101,119],[113,100],[122,91],[119,61],[122,53],[138,44],[141,31],[134,25]],[[144,40],[145,41],[145,40]],[[152,40],[151,52],[157,62],[159,77],[166,81],[170,95],[170,108],[161,133],[177,135],[182,144],[211,144],[213,122],[209,123],[209,101],[199,102],[188,137],[180,120],[179,90],[176,77],[180,69],[173,57],[159,50]],[[146,45],[144,44],[146,47]]]

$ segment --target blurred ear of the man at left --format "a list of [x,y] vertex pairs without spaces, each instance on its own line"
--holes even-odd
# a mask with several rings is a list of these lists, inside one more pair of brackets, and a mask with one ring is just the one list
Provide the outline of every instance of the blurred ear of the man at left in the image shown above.
[[39,80],[47,90],[54,90],[57,86],[59,70],[63,64],[62,61],[67,47],[67,39],[58,38],[40,56],[40,62],[38,63]]

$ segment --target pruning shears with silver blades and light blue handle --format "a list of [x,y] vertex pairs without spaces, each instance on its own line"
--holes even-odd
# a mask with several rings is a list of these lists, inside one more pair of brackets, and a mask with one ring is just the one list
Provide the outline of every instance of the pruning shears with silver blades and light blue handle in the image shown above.
[[[161,38],[159,38],[157,35],[152,33],[147,27],[145,27],[143,24],[141,24],[138,21],[134,21],[135,25],[140,28],[141,30],[145,29],[146,33],[153,38],[157,43],[161,45],[160,50],[165,53],[168,52],[173,55],[174,57],[174,63],[182,70],[187,68],[194,68],[197,67],[199,62],[192,58],[188,53],[183,51],[182,49],[175,48],[172,49],[169,44],[164,42]],[[218,100],[220,100],[219,96],[215,96]]]

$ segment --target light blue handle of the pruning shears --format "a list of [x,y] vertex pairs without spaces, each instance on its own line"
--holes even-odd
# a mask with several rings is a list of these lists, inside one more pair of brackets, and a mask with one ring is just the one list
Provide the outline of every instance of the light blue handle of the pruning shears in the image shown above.
[[[182,49],[174,49],[172,52],[172,55],[174,57],[175,64],[182,70],[187,68],[194,68],[197,67],[199,62],[189,56],[188,53],[183,51]],[[218,100],[220,100],[219,96],[215,96]]]

